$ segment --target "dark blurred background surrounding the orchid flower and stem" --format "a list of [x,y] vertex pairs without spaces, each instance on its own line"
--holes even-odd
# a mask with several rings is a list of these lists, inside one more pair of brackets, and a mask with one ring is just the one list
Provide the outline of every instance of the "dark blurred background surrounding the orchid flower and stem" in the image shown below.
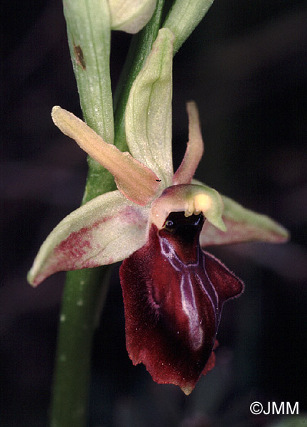
[[[53,105],[81,117],[60,0],[3,2],[1,19],[0,426],[43,427],[65,275],[33,289],[26,273],[48,233],[80,205],[87,164],[50,118]],[[225,305],[216,367],[189,397],[132,366],[116,265],[95,334],[90,427],[287,421],[252,416],[253,401],[298,401],[307,411],[306,23],[306,1],[218,0],[176,55],[175,167],[188,138],[185,102],[194,99],[205,142],[196,177],[292,237],[210,248],[246,288]],[[113,85],[129,41],[112,34]]]

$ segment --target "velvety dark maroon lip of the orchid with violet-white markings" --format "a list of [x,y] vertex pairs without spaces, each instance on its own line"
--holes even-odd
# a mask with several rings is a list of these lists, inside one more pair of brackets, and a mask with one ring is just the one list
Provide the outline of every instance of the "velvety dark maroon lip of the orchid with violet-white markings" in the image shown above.
[[203,223],[203,214],[171,212],[161,230],[151,226],[149,241],[120,270],[132,362],[185,394],[214,366],[222,305],[243,290],[241,280],[200,248]]

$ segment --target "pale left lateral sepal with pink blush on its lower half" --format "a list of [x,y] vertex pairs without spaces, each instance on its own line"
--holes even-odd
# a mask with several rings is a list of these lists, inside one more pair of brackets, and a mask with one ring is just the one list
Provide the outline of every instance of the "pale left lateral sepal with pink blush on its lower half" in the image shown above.
[[123,260],[146,242],[147,211],[126,201],[119,191],[81,206],[45,240],[28,273],[29,283],[37,286],[58,271]]

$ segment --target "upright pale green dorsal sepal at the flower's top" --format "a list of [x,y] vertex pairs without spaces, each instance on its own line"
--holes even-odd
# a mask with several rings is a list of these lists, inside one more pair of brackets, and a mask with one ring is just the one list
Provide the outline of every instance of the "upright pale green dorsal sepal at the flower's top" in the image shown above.
[[161,29],[126,106],[126,142],[132,156],[171,185],[171,100],[173,33]]

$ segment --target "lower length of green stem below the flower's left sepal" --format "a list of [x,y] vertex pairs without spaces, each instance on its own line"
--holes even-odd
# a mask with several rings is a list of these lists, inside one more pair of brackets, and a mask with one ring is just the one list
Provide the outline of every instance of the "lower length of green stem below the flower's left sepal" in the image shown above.
[[[51,427],[85,426],[92,337],[103,275],[102,268],[71,271],[67,275],[58,331]],[[104,286],[104,294],[106,290]]]

